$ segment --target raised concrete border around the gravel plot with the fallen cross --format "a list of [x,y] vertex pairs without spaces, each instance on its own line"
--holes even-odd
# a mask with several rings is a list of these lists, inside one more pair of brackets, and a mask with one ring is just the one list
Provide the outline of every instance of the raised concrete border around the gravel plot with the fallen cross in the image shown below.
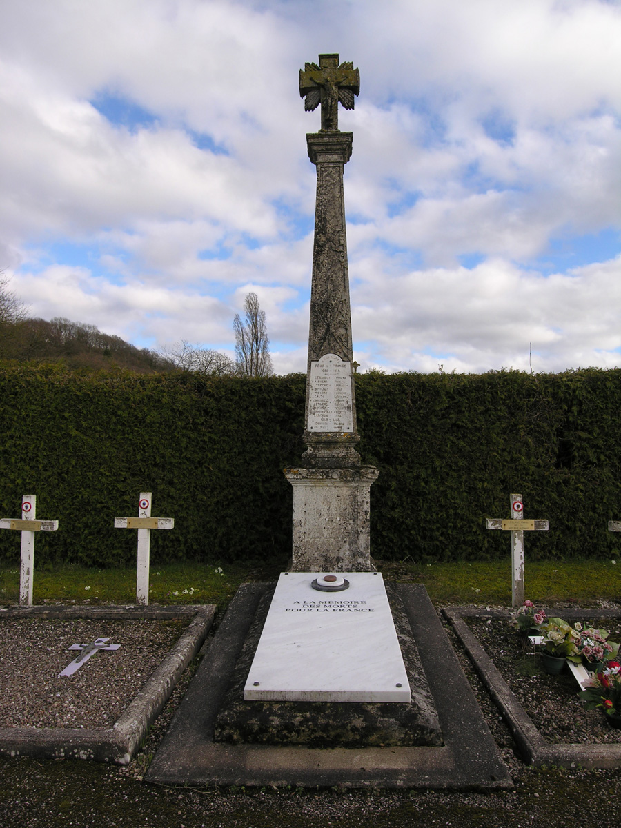
[[166,607],[46,605],[2,609],[0,624],[3,619],[188,619],[189,625],[112,728],[0,728],[0,756],[82,758],[117,764],[131,762],[134,753],[144,741],[147,730],[160,715],[175,689],[185,667],[205,642],[214,621],[215,609],[214,604]]

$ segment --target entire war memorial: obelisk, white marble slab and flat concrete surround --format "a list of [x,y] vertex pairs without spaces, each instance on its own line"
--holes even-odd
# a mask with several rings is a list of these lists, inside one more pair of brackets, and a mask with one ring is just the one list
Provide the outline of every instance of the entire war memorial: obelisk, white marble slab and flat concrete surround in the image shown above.
[[507,787],[422,585],[385,583],[369,549],[378,469],[356,446],[343,197],[359,71],[320,55],[300,72],[317,169],[306,452],[286,469],[293,551],[274,584],[243,584],[145,779],[159,784]]

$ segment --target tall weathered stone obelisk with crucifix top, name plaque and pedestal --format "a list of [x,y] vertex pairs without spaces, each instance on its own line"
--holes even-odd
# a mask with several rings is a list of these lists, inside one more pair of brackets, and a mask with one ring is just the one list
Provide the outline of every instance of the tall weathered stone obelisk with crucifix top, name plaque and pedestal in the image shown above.
[[300,70],[306,110],[321,107],[320,132],[306,136],[317,167],[315,246],[310,287],[303,466],[285,469],[293,486],[293,571],[363,572],[373,569],[369,495],[378,469],[360,464],[349,272],[345,238],[344,165],[351,132],[339,131],[339,103],[354,108],[359,70],[320,55]]

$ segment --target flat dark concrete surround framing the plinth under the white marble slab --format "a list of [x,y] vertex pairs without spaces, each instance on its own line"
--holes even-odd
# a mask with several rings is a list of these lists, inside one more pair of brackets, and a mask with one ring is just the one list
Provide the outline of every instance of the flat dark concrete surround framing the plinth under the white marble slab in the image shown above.
[[444,747],[311,749],[215,743],[215,717],[268,586],[244,584],[239,588],[156,750],[145,782],[456,791],[513,787],[508,768],[422,585],[401,585],[399,593],[436,702]]

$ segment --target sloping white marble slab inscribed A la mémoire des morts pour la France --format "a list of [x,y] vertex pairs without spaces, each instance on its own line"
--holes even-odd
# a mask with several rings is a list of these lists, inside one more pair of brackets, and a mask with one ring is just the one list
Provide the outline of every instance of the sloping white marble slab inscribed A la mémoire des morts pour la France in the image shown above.
[[321,575],[282,573],[244,700],[411,701],[382,575],[339,576],[349,589],[324,592]]

